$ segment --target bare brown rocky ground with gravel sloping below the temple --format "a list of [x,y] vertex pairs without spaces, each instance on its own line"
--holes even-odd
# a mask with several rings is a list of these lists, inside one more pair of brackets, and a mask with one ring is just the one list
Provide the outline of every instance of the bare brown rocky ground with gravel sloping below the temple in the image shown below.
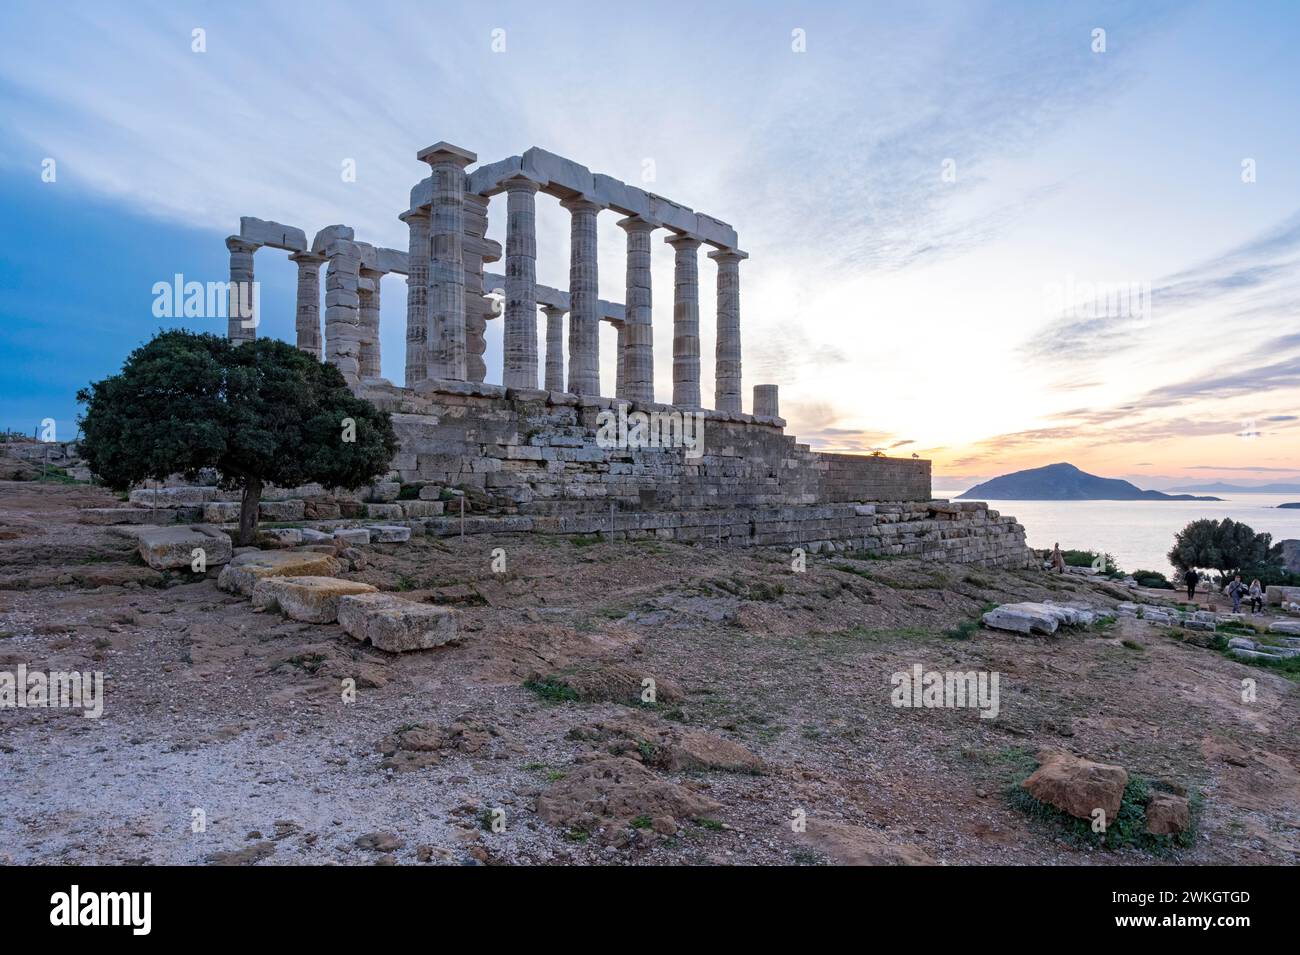
[[[344,574],[460,609],[456,643],[394,656],[256,611],[212,574],[151,570],[129,541],[75,522],[78,507],[113,503],[87,486],[0,482],[0,670],[107,681],[99,720],[0,709],[0,861],[1300,858],[1295,682],[1140,620],[1052,638],[959,629],[989,603],[1110,607],[1127,596],[1113,585],[416,538],[367,548],[367,567]],[[996,670],[997,719],[893,707],[890,676],[914,664]],[[640,702],[646,678],[654,706]],[[1080,848],[1015,808],[1009,793],[1041,747],[1200,794],[1192,846]],[[792,830],[798,817],[806,832]]]

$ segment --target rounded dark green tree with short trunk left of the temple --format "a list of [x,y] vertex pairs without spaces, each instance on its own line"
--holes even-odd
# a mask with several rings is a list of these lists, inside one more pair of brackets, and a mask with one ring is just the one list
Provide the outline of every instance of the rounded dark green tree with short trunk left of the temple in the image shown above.
[[125,490],[212,468],[222,487],[243,491],[240,543],[264,485],[360,487],[396,453],[386,412],[333,365],[274,339],[162,331],[77,400],[81,451],[104,483]]

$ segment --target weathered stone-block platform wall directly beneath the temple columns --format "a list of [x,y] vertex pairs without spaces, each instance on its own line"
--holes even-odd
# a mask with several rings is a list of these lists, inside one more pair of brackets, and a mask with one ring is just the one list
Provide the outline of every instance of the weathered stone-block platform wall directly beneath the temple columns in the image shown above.
[[393,468],[403,482],[481,487],[512,513],[604,509],[611,500],[677,511],[930,499],[928,461],[818,453],[786,435],[781,418],[703,412],[702,455],[693,456],[602,446],[601,412],[616,408],[607,398],[493,385],[416,394],[374,382],[360,394],[393,412],[402,444]]

